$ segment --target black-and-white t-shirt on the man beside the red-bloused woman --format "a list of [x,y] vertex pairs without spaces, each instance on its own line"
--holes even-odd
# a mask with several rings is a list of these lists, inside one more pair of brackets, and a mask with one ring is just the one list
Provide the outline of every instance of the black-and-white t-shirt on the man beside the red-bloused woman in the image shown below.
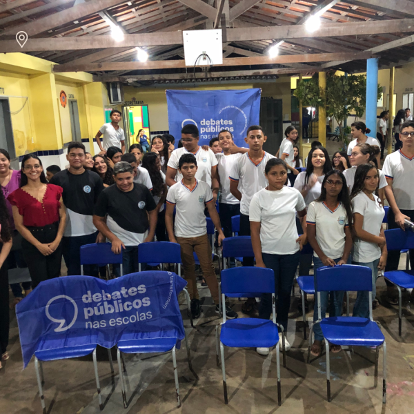
[[78,175],[63,170],[50,179],[50,184],[63,188],[63,204],[67,209],[64,236],[74,237],[95,233],[92,215],[95,203],[103,190],[101,177],[90,170],[85,170]]

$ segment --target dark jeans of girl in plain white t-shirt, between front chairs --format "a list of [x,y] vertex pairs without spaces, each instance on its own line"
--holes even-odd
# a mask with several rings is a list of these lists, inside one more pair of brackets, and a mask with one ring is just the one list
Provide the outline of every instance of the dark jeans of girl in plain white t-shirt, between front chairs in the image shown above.
[[[269,255],[262,253],[266,268],[275,272],[275,296],[277,300],[276,322],[288,329],[288,315],[290,308],[290,293],[292,292],[293,279],[297,265],[299,264],[299,251],[293,255]],[[269,319],[272,315],[272,295],[264,293],[260,302],[259,317]]]

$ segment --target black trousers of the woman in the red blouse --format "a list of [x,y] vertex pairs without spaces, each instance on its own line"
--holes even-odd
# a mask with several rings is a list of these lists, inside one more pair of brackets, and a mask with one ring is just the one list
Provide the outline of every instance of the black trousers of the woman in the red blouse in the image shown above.
[[[28,227],[30,233],[41,243],[52,243],[56,239],[59,223],[50,224],[44,227]],[[49,256],[42,255],[36,247],[26,239],[21,242],[23,258],[29,268],[32,278],[32,288],[35,288],[43,280],[59,277],[62,262],[62,243]]]

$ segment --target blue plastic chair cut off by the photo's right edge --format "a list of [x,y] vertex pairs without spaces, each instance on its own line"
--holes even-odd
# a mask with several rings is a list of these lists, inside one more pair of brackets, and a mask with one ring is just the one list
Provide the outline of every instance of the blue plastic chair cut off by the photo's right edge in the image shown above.
[[[386,248],[388,251],[414,248],[414,233],[411,230],[393,228],[385,230]],[[408,256],[408,253],[407,253]],[[398,289],[398,335],[402,333],[402,293],[401,288],[414,288],[414,269],[392,270],[384,273],[385,279],[395,284]]]

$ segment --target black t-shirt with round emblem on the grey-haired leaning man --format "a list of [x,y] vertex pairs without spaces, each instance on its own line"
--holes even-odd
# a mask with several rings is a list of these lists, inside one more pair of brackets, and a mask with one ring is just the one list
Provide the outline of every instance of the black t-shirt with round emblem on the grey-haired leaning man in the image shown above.
[[[99,217],[108,215],[108,228],[115,235],[122,230],[142,234],[149,226],[147,211],[152,211],[156,207],[150,190],[143,184],[134,183],[134,188],[128,192],[119,190],[114,184],[105,188],[99,195],[94,214]],[[115,229],[114,232],[114,228],[110,226],[110,219],[121,229]],[[119,239],[122,240],[121,237]]]

